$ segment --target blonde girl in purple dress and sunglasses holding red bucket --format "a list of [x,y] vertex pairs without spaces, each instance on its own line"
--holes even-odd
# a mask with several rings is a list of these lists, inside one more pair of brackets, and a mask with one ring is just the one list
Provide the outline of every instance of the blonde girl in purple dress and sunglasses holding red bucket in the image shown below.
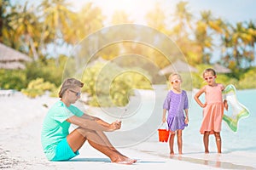
[[[173,73],[169,77],[169,81],[172,85],[172,90],[166,96],[165,103],[163,105],[163,118],[162,122],[166,122],[166,111],[168,111],[167,124],[168,129],[171,131],[169,146],[170,154],[174,155],[173,143],[174,137],[177,133],[177,148],[178,154],[183,154],[182,146],[182,132],[189,122],[189,102],[186,91],[181,89],[182,78],[179,74]],[[186,116],[184,116],[184,112]]]

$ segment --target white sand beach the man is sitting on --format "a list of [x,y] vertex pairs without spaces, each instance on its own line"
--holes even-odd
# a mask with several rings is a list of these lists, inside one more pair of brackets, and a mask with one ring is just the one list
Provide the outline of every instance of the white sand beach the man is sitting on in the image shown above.
[[[222,136],[223,153],[217,154],[214,139],[211,138],[210,151],[212,152],[204,154],[201,134],[198,132],[199,127],[193,127],[192,113],[190,114],[191,125],[183,131],[182,156],[170,157],[168,144],[158,141],[156,130],[149,139],[129,147],[118,148],[121,153],[138,160],[133,165],[111,163],[107,156],[91,148],[88,143],[79,150],[80,155],[70,161],[48,161],[41,147],[40,132],[45,114],[57,100],[57,98],[48,96],[29,99],[18,92],[12,96],[0,97],[0,168],[19,170],[171,169],[173,167],[180,169],[256,169],[255,142],[253,145],[240,149],[236,147],[236,143],[240,142],[238,139],[225,140],[225,136]],[[200,120],[196,121],[200,122]],[[255,127],[247,130],[255,133]],[[224,129],[225,133],[229,132],[225,132]],[[249,135],[247,137],[247,140],[255,141],[254,137],[249,138]],[[177,144],[175,147],[177,150]]]

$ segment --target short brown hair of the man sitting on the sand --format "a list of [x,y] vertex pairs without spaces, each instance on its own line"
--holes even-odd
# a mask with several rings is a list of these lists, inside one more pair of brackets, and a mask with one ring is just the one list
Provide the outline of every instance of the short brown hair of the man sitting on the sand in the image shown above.
[[67,91],[68,88],[83,88],[84,83],[80,82],[75,78],[67,78],[61,86],[61,91],[59,92],[59,97],[62,98],[63,94]]

